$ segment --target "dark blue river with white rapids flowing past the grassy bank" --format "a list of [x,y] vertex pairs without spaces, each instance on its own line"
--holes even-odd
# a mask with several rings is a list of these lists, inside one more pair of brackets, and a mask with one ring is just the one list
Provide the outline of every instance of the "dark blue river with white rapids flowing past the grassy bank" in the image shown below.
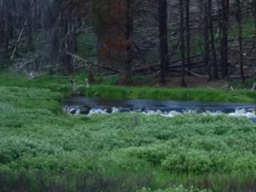
[[63,111],[72,115],[93,115],[106,113],[144,113],[173,117],[182,113],[203,113],[230,116],[246,116],[256,122],[256,104],[230,102],[188,102],[175,100],[111,100],[71,97],[65,99]]

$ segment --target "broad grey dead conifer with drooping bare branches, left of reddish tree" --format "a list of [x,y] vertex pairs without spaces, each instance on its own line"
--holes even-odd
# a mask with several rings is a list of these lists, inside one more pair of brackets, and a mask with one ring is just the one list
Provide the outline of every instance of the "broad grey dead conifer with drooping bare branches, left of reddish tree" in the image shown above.
[[76,22],[67,2],[50,1],[44,12],[43,31],[46,38],[40,63],[60,63],[64,72],[72,72],[72,56],[76,49]]

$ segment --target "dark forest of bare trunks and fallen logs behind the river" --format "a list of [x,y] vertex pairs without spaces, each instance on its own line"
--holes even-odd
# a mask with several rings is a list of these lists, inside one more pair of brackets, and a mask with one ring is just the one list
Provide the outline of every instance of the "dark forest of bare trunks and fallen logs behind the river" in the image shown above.
[[[256,0],[1,0],[0,65],[161,84],[255,75]],[[35,76],[35,75],[34,75]]]

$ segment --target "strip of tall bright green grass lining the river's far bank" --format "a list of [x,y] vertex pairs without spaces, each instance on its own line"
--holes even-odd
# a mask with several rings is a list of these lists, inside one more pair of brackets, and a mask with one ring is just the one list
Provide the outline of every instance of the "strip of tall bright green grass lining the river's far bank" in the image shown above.
[[83,88],[81,92],[88,97],[105,99],[158,99],[158,100],[196,100],[212,102],[256,102],[256,92],[249,90],[214,90],[196,88],[129,88],[122,86],[94,85]]

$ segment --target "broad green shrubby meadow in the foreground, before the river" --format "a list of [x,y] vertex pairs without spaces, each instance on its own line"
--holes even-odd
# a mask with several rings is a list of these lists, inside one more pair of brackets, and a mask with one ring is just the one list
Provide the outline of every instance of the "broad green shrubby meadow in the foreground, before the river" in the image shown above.
[[0,191],[256,189],[246,118],[69,116],[58,93],[0,90]]

